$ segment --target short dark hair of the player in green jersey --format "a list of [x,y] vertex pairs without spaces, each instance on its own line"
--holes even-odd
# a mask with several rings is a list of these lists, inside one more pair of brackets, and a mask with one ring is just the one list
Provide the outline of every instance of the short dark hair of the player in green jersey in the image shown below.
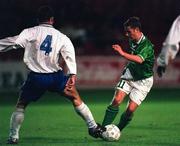
[[141,30],[141,22],[139,17],[130,17],[125,23],[124,28],[131,27],[131,28],[139,28]]

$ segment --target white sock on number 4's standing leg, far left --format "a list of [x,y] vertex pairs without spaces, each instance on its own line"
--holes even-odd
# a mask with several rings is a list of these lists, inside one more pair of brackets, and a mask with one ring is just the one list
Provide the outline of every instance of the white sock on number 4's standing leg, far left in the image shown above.
[[19,129],[21,127],[21,123],[24,120],[24,109],[17,108],[16,111],[12,113],[10,120],[10,131],[9,137],[19,139]]

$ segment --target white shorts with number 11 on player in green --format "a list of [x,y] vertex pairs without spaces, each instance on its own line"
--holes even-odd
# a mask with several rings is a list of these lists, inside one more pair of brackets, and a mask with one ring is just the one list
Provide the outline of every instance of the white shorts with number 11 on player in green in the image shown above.
[[129,94],[129,98],[138,105],[146,98],[148,92],[153,85],[153,76],[138,81],[121,80],[116,89],[124,91]]

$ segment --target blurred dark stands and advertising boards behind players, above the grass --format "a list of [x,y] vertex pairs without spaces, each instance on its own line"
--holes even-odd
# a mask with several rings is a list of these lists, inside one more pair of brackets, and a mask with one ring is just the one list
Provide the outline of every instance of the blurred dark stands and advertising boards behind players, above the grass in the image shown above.
[[[123,23],[129,17],[140,17],[157,56],[173,20],[180,14],[179,0],[1,0],[0,38],[37,25],[36,11],[41,5],[53,7],[55,28],[74,44],[80,88],[114,88],[127,62],[111,45],[118,43],[127,49]],[[15,89],[23,82],[27,74],[23,52],[0,53],[0,90]],[[179,54],[163,78],[155,73],[155,87],[180,87],[178,58]]]

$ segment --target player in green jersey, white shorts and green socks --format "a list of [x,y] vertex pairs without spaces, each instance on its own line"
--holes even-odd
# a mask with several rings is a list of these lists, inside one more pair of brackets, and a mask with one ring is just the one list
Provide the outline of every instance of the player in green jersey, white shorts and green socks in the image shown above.
[[155,60],[154,46],[142,33],[138,17],[130,17],[124,23],[124,30],[129,39],[131,54],[124,52],[118,44],[112,45],[112,48],[129,60],[129,63],[126,65],[115,88],[114,97],[106,109],[102,123],[103,126],[106,126],[114,121],[120,104],[126,95],[129,95],[127,108],[117,124],[121,131],[132,120],[133,113],[140,106],[153,85]]

